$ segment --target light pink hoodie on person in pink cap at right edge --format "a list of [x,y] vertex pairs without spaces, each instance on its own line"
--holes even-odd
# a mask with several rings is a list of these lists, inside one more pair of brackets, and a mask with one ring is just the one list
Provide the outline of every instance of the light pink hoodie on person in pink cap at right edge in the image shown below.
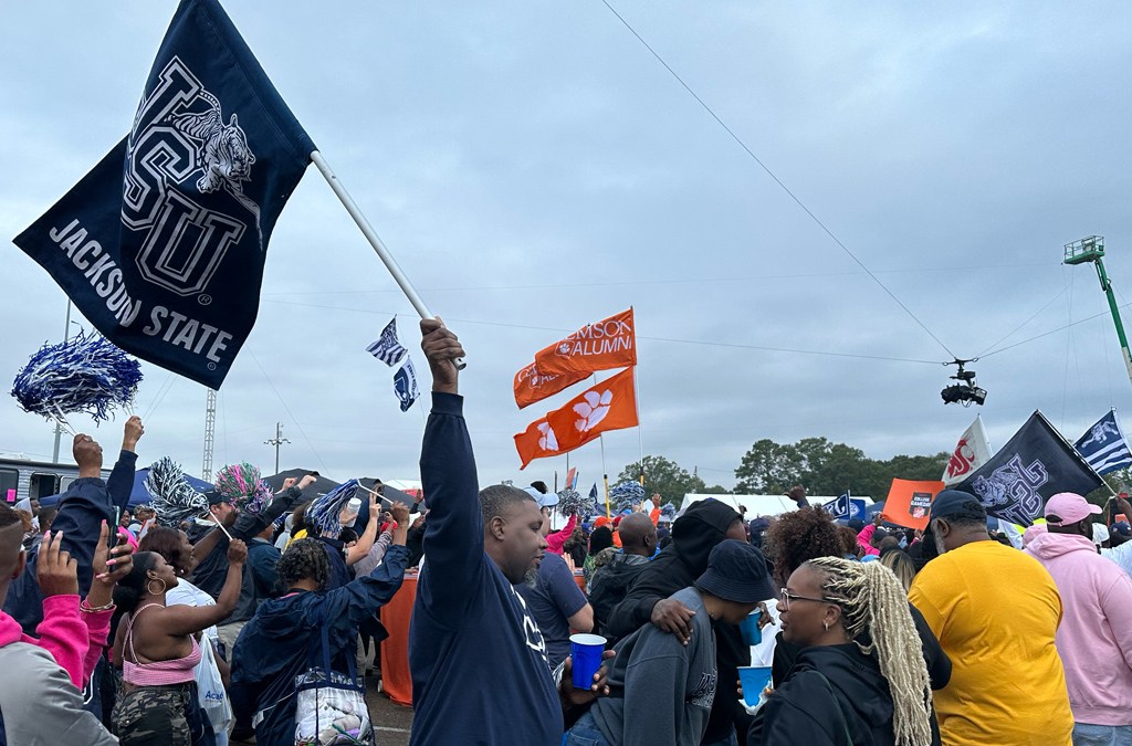
[[1132,578],[1097,554],[1090,539],[1045,533],[1023,550],[1049,571],[1064,616],[1057,652],[1073,719],[1095,726],[1132,724]]

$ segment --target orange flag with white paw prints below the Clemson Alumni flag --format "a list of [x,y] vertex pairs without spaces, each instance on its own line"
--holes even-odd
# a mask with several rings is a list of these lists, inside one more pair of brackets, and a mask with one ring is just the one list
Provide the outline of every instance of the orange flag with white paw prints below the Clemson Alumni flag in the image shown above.
[[515,436],[523,469],[535,458],[557,456],[590,443],[607,430],[637,426],[633,368],[585,389]]

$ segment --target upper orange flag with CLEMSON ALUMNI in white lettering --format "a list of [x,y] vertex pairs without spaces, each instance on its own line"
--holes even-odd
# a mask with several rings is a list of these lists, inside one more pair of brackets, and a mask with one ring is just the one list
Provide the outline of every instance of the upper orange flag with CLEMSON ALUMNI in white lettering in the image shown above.
[[[621,311],[540,350],[534,355],[539,372],[591,374],[636,365],[636,331],[633,309]],[[559,389],[561,391],[561,389]]]

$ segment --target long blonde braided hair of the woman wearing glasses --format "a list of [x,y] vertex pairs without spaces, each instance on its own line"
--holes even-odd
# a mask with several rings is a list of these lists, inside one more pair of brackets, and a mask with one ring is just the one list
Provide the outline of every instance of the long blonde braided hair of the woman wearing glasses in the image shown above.
[[[881,563],[820,557],[806,565],[823,576],[822,595],[841,607],[849,638],[866,655],[876,655],[892,693],[897,746],[931,743],[932,683],[900,581]],[[865,633],[868,644],[861,643]]]

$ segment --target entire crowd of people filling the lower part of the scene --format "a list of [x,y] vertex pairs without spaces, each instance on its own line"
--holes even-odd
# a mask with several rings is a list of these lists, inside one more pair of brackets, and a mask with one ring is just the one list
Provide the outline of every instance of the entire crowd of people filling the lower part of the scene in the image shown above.
[[[128,512],[137,418],[106,479],[80,435],[58,509],[0,506],[2,743],[379,743],[379,610],[419,567],[414,745],[1132,745],[1125,499],[1056,495],[1022,534],[944,490],[912,531],[796,487],[778,516],[658,498],[552,531],[544,483],[480,488],[464,350],[421,331],[417,516],[368,498],[311,520],[314,475],[257,509],[213,490],[173,525]],[[604,641],[581,685],[577,633]],[[744,691],[753,663],[766,686]]]

